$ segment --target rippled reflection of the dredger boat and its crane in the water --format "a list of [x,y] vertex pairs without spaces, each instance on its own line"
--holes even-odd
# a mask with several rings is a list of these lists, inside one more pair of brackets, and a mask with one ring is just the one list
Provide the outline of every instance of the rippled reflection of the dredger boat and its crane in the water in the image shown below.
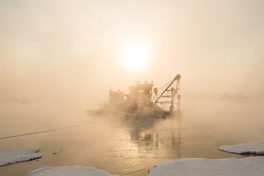
[[122,125],[129,133],[129,140],[137,146],[140,157],[181,157],[182,114],[166,119],[124,118]]

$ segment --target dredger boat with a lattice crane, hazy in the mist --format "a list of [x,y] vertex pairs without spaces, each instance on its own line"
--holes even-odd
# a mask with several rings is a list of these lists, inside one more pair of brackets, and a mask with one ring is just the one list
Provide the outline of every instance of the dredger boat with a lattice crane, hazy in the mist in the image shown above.
[[[121,114],[133,117],[167,117],[180,112],[180,79],[178,74],[159,89],[151,83],[139,81],[129,86],[129,94],[109,91],[109,101],[100,102],[99,110],[87,110],[88,114]],[[153,89],[153,90],[152,90]],[[177,98],[178,102],[175,101]]]

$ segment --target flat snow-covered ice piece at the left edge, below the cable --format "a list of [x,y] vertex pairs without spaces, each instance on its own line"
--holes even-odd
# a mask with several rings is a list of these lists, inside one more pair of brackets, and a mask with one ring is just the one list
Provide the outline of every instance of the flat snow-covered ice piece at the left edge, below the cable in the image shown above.
[[0,166],[40,158],[41,154],[36,153],[38,151],[40,151],[40,149],[35,148],[15,148],[0,150]]

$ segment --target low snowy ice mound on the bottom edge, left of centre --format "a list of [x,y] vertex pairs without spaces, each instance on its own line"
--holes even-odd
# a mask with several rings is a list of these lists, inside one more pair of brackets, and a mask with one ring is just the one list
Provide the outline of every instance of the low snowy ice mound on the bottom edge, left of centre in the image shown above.
[[[44,167],[29,172],[26,176],[114,176],[104,170],[86,166]],[[118,175],[117,175],[118,176]]]

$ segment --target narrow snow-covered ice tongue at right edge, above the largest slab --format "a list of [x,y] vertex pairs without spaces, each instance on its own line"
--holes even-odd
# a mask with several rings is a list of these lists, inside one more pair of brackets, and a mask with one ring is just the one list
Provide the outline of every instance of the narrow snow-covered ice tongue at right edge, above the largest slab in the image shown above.
[[227,145],[219,147],[219,150],[229,153],[252,153],[252,154],[264,154],[264,141],[249,142],[237,145]]

